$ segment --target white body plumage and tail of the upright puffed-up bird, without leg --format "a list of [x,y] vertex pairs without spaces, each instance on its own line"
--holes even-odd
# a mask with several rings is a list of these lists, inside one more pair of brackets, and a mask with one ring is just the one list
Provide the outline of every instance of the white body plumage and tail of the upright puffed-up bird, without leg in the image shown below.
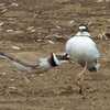
[[81,66],[85,66],[87,62],[89,70],[97,70],[99,67],[97,59],[100,57],[100,53],[86,28],[82,30],[79,28],[79,32],[67,41],[66,53],[69,55],[70,61],[78,62]]

